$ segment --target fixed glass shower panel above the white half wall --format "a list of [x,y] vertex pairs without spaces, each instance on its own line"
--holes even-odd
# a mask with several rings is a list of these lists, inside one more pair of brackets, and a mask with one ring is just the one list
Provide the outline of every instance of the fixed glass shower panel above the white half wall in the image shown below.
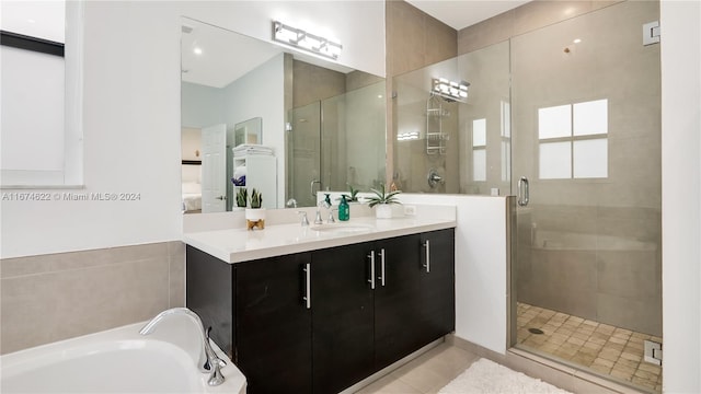
[[[437,78],[469,82],[466,103],[432,95]],[[394,85],[397,187],[409,193],[509,193],[508,42],[395,77]]]

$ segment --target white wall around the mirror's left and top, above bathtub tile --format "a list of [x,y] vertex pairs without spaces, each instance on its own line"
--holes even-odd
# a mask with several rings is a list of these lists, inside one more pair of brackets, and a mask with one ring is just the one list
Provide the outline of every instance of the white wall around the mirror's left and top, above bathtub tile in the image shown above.
[[[273,19],[314,22],[343,43],[341,63],[384,73],[381,1],[87,1],[85,188],[39,190],[48,192],[50,201],[1,201],[1,257],[181,237],[181,16],[267,40]],[[54,198],[64,192],[138,193],[140,199]]]

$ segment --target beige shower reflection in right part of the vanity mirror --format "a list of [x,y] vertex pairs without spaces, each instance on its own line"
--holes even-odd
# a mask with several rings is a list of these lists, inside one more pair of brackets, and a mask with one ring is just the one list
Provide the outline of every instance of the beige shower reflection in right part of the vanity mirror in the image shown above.
[[384,178],[384,81],[294,62],[288,196],[317,202],[319,190],[369,190]]

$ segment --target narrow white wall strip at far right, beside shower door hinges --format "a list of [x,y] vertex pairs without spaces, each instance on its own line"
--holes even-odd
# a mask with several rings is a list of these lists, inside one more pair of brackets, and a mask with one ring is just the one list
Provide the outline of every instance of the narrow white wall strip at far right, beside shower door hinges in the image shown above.
[[663,391],[701,392],[701,2],[662,1]]

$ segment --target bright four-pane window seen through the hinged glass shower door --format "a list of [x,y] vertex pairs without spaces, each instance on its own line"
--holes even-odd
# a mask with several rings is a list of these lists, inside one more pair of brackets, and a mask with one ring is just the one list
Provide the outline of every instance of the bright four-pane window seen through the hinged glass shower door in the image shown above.
[[608,177],[608,100],[538,109],[541,179]]

